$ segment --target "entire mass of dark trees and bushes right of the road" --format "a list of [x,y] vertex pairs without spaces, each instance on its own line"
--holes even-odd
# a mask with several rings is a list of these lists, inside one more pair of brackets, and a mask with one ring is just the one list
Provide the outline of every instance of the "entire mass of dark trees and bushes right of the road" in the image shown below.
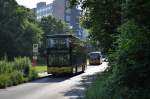
[[81,23],[109,61],[85,99],[149,99],[150,1],[71,0],[71,4],[82,6]]

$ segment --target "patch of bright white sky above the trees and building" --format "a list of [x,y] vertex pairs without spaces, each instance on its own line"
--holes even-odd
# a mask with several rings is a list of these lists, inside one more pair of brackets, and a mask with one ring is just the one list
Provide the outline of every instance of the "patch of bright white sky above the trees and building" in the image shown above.
[[23,5],[26,8],[35,8],[38,2],[52,3],[54,0],[16,0],[19,5]]

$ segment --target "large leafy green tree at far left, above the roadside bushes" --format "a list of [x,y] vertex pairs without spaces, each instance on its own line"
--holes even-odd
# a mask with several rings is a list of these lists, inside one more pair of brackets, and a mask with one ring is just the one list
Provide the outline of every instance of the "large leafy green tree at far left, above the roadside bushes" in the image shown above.
[[36,18],[15,0],[0,2],[0,57],[31,56],[33,43],[40,44],[43,33]]

